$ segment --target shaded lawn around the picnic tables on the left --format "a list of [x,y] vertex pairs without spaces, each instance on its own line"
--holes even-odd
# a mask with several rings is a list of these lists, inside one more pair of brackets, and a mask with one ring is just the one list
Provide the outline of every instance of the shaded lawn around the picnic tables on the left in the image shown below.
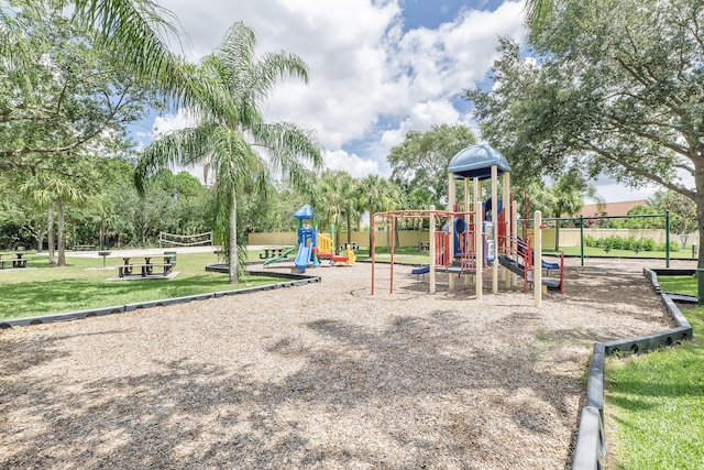
[[[89,308],[112,307],[138,302],[207,294],[211,292],[267,285],[279,282],[273,277],[241,277],[238,285],[228,283],[228,275],[206,272],[217,261],[212,253],[178,253],[174,280],[119,281],[118,270],[102,270],[102,258],[67,258],[68,266],[47,264],[46,256],[29,254],[28,269],[0,271],[2,296],[0,318],[22,318],[63,314]],[[117,266],[121,259],[108,259]]]

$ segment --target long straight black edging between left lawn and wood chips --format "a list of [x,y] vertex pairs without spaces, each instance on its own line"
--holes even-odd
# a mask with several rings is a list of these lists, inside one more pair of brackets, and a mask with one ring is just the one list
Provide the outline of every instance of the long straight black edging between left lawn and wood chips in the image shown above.
[[258,271],[256,272],[251,271],[250,273],[268,276],[268,277],[283,277],[286,280],[292,280],[293,282],[286,281],[277,284],[268,284],[268,285],[256,286],[256,287],[246,287],[239,291],[221,291],[221,292],[213,292],[213,293],[207,293],[207,294],[186,295],[183,297],[163,298],[160,300],[136,302],[133,304],[120,305],[114,307],[94,308],[88,310],[70,311],[65,314],[41,315],[36,317],[25,317],[25,318],[11,318],[7,320],[0,320],[0,330],[13,328],[13,327],[26,327],[32,325],[43,325],[43,324],[52,324],[52,323],[61,323],[61,321],[72,321],[72,320],[85,319],[90,317],[101,317],[105,315],[122,314],[125,311],[134,311],[143,308],[152,308],[152,307],[164,307],[167,305],[186,304],[194,300],[205,300],[208,298],[224,297],[228,295],[251,294],[253,292],[270,291],[272,288],[296,287],[296,286],[302,286],[306,284],[318,283],[321,281],[320,276],[306,276],[302,274],[294,274],[294,273],[274,273],[274,272],[258,272]]

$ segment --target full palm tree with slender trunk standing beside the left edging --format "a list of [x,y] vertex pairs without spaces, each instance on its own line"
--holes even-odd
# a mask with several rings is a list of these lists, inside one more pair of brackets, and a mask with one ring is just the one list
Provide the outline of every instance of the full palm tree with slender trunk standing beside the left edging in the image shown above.
[[[305,63],[294,54],[254,55],[254,31],[234,23],[222,43],[190,68],[193,79],[207,90],[194,103],[194,127],[165,134],[140,159],[135,183],[144,192],[147,176],[170,165],[202,163],[215,174],[218,216],[216,237],[229,259],[230,283],[238,282],[238,193],[242,187],[264,188],[271,174],[288,175],[305,184],[309,171],[322,166],[321,147],[311,132],[292,123],[268,123],[260,107],[276,80],[294,76],[307,80]],[[220,116],[217,110],[228,110]],[[263,154],[255,149],[262,149]]]

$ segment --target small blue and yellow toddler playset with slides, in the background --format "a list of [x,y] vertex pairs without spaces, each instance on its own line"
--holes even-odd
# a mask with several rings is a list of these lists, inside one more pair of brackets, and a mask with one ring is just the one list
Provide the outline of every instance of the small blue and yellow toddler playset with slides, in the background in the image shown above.
[[352,265],[356,261],[356,255],[352,251],[351,247],[346,247],[344,254],[334,253],[334,227],[330,227],[330,233],[322,233],[318,231],[317,226],[310,226],[306,223],[306,220],[314,219],[314,209],[309,205],[305,205],[294,214],[294,217],[298,221],[298,240],[297,247],[283,252],[279,256],[274,256],[264,262],[264,266],[287,258],[290,253],[296,251],[296,260],[294,264],[296,267],[306,272],[309,265],[317,267],[320,265],[321,260],[330,260],[330,264],[344,263]]

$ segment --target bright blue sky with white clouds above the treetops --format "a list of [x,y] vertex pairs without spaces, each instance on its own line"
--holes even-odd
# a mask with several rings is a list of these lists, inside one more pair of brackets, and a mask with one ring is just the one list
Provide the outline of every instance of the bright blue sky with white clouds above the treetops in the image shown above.
[[[472,127],[463,89],[491,86],[487,74],[499,35],[525,39],[522,1],[499,0],[160,0],[190,37],[194,61],[243,21],[260,54],[287,51],[309,66],[307,86],[279,83],[267,119],[315,130],[326,162],[355,177],[389,176],[389,150],[409,130],[441,123]],[[184,112],[146,122],[139,139],[185,125]],[[481,136],[480,136],[481,139]],[[600,193],[612,200],[630,198]],[[613,193],[613,197],[609,197]],[[639,198],[639,196],[634,196]],[[616,199],[614,199],[616,200]]]

